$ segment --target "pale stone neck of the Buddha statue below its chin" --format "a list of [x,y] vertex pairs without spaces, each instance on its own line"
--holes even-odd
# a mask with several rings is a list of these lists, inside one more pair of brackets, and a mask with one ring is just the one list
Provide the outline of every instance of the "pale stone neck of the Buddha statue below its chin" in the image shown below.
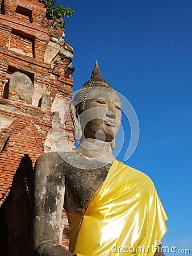
[[111,142],[99,141],[98,139],[86,138],[80,141],[76,152],[87,158],[98,160],[99,162],[111,163],[114,155],[111,150]]

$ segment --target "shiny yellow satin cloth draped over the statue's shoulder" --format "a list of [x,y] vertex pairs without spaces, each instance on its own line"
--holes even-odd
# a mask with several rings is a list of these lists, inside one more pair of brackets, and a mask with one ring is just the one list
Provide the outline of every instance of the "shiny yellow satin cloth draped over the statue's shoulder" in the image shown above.
[[81,213],[66,213],[70,251],[77,256],[151,256],[166,233],[167,216],[151,179],[116,159]]

